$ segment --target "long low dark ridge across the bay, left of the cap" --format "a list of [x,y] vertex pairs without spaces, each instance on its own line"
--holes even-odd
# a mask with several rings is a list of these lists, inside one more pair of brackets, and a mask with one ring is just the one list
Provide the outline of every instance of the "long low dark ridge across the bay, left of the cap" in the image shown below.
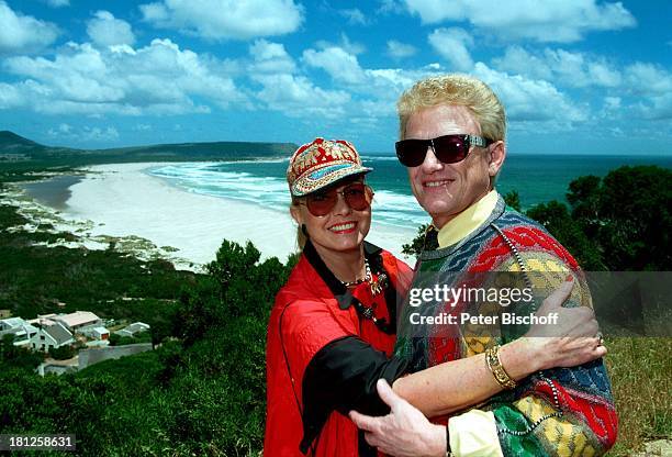
[[112,149],[74,149],[41,145],[13,132],[0,132],[2,161],[44,161],[54,165],[86,165],[126,161],[239,160],[289,157],[293,143],[213,142],[158,144]]

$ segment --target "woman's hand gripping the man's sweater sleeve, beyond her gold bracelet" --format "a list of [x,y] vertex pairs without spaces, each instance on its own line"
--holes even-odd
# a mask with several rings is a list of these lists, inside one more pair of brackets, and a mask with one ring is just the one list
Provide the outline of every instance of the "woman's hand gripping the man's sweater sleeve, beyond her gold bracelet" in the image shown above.
[[537,311],[537,315],[558,314],[556,324],[533,325],[524,337],[511,343],[526,345],[529,358],[536,360],[538,369],[574,367],[607,353],[593,310],[562,306],[573,286],[573,280],[563,282]]

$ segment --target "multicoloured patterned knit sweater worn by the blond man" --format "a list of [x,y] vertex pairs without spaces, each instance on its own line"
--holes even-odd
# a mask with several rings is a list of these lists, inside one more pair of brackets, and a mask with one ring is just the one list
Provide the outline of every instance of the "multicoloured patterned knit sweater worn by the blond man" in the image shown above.
[[[432,287],[428,281],[437,281],[436,272],[519,272],[522,268],[531,275],[559,272],[544,275],[541,285],[535,279],[537,305],[560,285],[568,271],[578,278],[569,301],[573,305],[591,305],[587,285],[573,257],[539,224],[505,208],[501,197],[490,218],[464,239],[423,252],[412,288]],[[479,336],[467,334],[463,328],[452,335],[429,325],[418,330],[418,325],[410,323],[410,313],[417,308],[410,306],[407,300],[402,308],[395,353],[410,359],[412,371],[483,353],[526,331]],[[459,312],[459,306],[451,309],[445,303],[441,306],[449,313]],[[539,371],[522,380],[514,390],[504,391],[477,408],[494,414],[500,443],[496,452],[488,455],[597,456],[616,441],[618,419],[602,360]],[[496,443],[493,446],[496,448]]]

